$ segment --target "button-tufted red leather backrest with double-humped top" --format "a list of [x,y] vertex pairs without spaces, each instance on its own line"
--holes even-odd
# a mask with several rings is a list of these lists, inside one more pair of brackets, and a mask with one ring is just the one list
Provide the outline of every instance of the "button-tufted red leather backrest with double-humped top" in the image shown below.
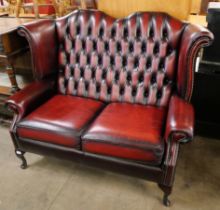
[[57,20],[62,94],[167,106],[185,24],[164,13],[114,19],[78,10]]

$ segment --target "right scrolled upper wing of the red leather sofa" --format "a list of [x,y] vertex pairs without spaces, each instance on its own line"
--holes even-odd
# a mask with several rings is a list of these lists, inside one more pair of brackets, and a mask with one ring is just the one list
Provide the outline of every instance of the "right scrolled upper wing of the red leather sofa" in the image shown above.
[[177,88],[178,95],[186,101],[190,101],[192,96],[194,69],[199,50],[209,46],[213,39],[213,34],[202,26],[189,24],[183,32],[179,52]]

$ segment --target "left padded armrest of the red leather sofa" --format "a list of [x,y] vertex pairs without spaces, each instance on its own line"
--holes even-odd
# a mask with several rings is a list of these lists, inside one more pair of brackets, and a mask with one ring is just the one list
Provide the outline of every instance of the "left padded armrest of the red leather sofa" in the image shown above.
[[48,100],[53,93],[54,82],[48,80],[33,82],[9,97],[6,106],[18,115],[17,121],[19,121]]

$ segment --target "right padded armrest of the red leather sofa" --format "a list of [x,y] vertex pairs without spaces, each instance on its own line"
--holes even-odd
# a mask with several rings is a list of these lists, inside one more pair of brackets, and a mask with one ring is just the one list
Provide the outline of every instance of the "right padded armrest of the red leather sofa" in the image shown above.
[[176,141],[188,142],[193,138],[193,131],[193,106],[178,96],[172,96],[167,115],[165,140],[174,137]]

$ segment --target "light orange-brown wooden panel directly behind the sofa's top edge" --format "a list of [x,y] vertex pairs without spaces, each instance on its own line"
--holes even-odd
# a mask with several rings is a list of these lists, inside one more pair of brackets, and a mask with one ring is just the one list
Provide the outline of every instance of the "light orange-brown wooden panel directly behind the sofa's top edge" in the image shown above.
[[178,19],[187,20],[191,0],[98,0],[97,7],[114,17],[125,17],[136,11],[162,11]]

